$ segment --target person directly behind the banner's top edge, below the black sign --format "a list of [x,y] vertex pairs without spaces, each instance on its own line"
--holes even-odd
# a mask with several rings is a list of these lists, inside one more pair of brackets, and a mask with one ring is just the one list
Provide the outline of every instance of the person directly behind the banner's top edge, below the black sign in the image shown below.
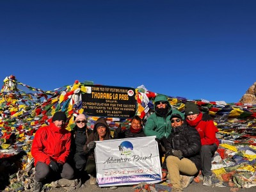
[[117,127],[113,134],[114,139],[122,139],[122,138],[140,138],[145,137],[142,127],[142,120],[140,116],[135,115],[131,120],[130,129],[126,129],[122,131],[121,127]]

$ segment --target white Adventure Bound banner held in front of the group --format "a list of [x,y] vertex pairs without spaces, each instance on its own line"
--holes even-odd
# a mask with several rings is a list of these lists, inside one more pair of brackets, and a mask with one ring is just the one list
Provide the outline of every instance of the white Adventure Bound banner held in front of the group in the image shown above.
[[161,182],[162,172],[155,138],[96,141],[99,186]]

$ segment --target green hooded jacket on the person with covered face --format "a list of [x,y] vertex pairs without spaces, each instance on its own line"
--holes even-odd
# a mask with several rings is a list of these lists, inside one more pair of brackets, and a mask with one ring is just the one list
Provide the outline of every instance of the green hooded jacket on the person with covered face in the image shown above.
[[163,136],[168,138],[169,134],[171,133],[172,125],[171,125],[170,117],[172,116],[172,114],[177,113],[180,116],[182,116],[182,118],[184,119],[183,113],[180,113],[180,111],[171,108],[170,103],[168,102],[165,95],[157,95],[154,102],[156,103],[161,100],[167,102],[166,108],[168,108],[168,112],[164,116],[157,113],[156,104],[155,104],[154,106],[155,112],[148,117],[144,127],[144,132],[146,136],[156,136],[156,138],[159,140],[161,140]]

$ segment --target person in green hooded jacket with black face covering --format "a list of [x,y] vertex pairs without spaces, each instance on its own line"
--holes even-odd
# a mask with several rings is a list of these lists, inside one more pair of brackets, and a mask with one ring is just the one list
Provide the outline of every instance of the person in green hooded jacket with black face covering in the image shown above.
[[154,110],[145,124],[144,132],[146,136],[156,136],[156,141],[159,148],[160,162],[164,157],[164,143],[166,143],[166,138],[172,131],[172,125],[170,117],[172,114],[179,114],[184,119],[184,115],[176,109],[172,109],[170,103],[165,95],[157,95],[154,100]]

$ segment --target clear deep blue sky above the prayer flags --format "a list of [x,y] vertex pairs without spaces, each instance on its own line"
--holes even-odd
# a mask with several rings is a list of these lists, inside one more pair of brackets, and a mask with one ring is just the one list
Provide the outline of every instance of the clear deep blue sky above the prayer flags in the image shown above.
[[0,1],[0,80],[75,80],[237,102],[256,81],[256,1]]

